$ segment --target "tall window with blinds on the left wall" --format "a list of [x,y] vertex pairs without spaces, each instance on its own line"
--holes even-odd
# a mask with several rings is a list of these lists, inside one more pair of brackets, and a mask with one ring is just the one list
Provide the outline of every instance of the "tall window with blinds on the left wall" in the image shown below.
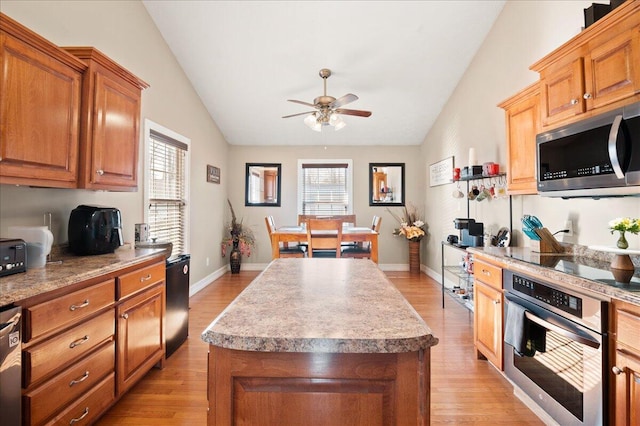
[[151,129],[148,147],[149,235],[185,254],[188,145]]

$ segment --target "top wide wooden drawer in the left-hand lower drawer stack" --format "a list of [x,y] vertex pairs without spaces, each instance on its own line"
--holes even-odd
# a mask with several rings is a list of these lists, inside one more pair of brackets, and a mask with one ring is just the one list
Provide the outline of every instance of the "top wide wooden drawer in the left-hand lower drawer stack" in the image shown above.
[[27,308],[25,342],[57,328],[77,324],[114,302],[115,282],[111,279]]

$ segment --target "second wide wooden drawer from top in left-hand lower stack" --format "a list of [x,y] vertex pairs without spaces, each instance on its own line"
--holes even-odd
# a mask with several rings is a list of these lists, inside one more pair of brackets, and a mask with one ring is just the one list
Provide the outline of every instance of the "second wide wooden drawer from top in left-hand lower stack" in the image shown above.
[[25,387],[80,359],[106,340],[113,340],[114,313],[111,309],[44,343],[23,350]]

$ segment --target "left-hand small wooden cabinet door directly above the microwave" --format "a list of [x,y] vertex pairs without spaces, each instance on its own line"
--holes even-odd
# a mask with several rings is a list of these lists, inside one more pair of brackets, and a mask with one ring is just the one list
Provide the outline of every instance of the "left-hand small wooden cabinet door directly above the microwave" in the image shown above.
[[583,58],[540,74],[542,125],[549,126],[585,111]]

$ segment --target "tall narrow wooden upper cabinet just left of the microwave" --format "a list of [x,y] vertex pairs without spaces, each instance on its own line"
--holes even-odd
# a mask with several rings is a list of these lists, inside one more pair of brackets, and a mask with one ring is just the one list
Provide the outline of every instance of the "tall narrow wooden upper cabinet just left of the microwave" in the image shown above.
[[532,84],[500,105],[507,134],[507,191],[537,194],[536,135],[540,132],[540,85]]

